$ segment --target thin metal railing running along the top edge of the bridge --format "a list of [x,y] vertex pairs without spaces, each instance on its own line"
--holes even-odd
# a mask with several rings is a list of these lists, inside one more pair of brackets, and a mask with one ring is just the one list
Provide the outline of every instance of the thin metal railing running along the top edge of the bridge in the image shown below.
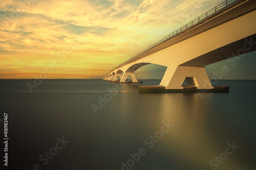
[[204,13],[203,15],[199,16],[198,18],[188,22],[185,26],[179,28],[178,30],[174,31],[173,33],[167,35],[166,37],[164,37],[163,39],[157,41],[156,43],[152,44],[151,46],[148,46],[145,50],[141,51],[140,53],[136,54],[135,56],[133,56],[132,58],[124,61],[123,63],[119,64],[118,66],[116,66],[114,69],[112,69],[110,72],[112,72],[113,70],[117,69],[118,67],[120,67],[121,65],[123,65],[124,63],[131,61],[137,57],[139,57],[140,55],[144,54],[147,51],[152,50],[153,48],[159,46],[160,44],[175,38],[176,36],[178,36],[181,33],[184,33],[190,29],[193,28],[193,26],[195,27],[196,25],[198,25],[199,23],[202,23],[204,21],[206,21],[207,19],[209,19],[210,17],[212,17],[213,15],[217,14],[217,13],[221,13],[224,9],[226,9],[227,7],[233,5],[234,3],[237,2],[243,2],[245,0],[226,0],[223,3],[221,3],[220,5],[216,6],[215,8],[212,8],[211,10],[207,11],[206,13]]

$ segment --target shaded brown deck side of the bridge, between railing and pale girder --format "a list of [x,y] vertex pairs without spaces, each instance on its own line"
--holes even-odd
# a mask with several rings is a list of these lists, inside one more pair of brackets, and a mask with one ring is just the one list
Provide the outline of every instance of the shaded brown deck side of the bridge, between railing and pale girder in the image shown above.
[[[124,63],[118,65],[117,67],[115,67],[114,69],[112,69],[109,74],[114,71],[117,68],[120,68],[126,64],[132,63],[134,61],[137,61],[141,58],[144,58],[148,55],[151,55],[153,53],[156,53],[160,50],[162,50],[163,48],[166,48],[168,46],[174,45],[178,42],[181,42],[185,39],[188,39],[190,37],[193,37],[195,35],[198,35],[202,32],[205,32],[209,29],[212,29],[214,27],[217,27],[219,25],[221,25],[222,23],[225,23],[229,20],[232,20],[234,18],[237,18],[239,16],[242,16],[246,13],[249,13],[253,10],[255,10],[255,6],[256,6],[256,1],[252,1],[252,0],[240,0],[240,1],[234,1],[234,0],[227,0],[225,2],[232,2],[232,4],[230,4],[229,6],[223,8],[223,9],[219,9],[219,11],[216,11],[214,14],[211,13],[212,10],[208,11],[211,14],[209,16],[207,16],[207,13],[201,15],[201,16],[205,16],[204,20],[200,20],[199,18],[196,18],[195,20],[193,20],[196,24],[195,25],[191,25],[191,23],[189,22],[186,27],[188,27],[188,25],[191,25],[189,28],[187,28],[186,30],[183,31],[183,26],[182,28],[180,28],[179,30],[176,31],[176,34],[172,33],[168,36],[170,36],[170,38],[164,38],[157,43],[157,45],[151,45],[150,47],[146,48],[144,51],[142,51],[141,53],[139,53],[138,55],[136,55],[135,57],[129,59],[128,61],[125,61]],[[223,3],[222,3],[223,4]],[[217,6],[218,7],[218,6]],[[217,9],[214,8],[214,9]],[[197,22],[196,22],[197,20]],[[191,21],[191,22],[193,22]],[[156,43],[155,43],[156,44]]]

